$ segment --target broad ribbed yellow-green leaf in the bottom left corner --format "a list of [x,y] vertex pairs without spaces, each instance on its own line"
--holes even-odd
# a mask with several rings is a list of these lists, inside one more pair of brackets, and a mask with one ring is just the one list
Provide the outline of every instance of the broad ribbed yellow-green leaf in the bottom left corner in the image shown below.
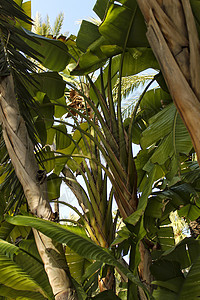
[[15,290],[34,290],[48,299],[52,297],[43,263],[37,258],[33,258],[13,244],[0,240],[0,260],[2,284]]

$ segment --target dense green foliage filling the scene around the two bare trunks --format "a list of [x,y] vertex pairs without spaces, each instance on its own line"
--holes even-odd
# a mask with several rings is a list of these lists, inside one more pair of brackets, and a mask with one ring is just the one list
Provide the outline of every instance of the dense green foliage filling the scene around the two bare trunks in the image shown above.
[[[56,209],[51,221],[30,214],[1,132],[0,299],[54,299],[33,228],[63,244],[78,299],[198,298],[200,170],[137,2],[97,0],[100,25],[83,21],[77,37],[31,32],[31,3],[22,2],[0,7],[1,78],[14,79]],[[149,68],[156,75],[123,114],[136,91],[127,82]],[[79,204],[62,202],[77,215],[67,223],[61,184]],[[191,224],[178,244],[174,211]]]

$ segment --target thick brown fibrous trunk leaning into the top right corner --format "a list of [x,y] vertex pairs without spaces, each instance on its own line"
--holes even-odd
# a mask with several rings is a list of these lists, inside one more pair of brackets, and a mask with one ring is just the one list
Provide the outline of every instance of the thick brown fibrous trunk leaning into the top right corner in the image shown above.
[[200,43],[189,0],[137,0],[147,38],[200,165]]

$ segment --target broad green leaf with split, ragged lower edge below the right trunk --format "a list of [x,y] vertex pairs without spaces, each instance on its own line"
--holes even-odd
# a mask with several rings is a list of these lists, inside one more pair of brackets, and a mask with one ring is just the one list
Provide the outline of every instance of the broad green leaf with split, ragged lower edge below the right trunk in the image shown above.
[[172,179],[179,168],[179,155],[188,155],[192,149],[189,133],[173,104],[158,112],[149,123],[142,132],[140,143],[142,148],[154,145],[154,152],[144,170],[148,170],[151,164],[163,165],[171,158],[168,176]]

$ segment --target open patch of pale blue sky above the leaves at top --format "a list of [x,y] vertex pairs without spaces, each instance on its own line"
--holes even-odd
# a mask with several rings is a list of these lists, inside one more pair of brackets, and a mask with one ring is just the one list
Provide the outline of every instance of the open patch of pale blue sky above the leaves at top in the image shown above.
[[76,35],[80,27],[77,21],[96,17],[96,14],[92,10],[95,3],[96,0],[31,0],[32,18],[35,17],[37,11],[43,19],[48,14],[50,22],[53,25],[56,16],[60,12],[64,12],[65,18],[62,33],[68,31],[70,34]]

